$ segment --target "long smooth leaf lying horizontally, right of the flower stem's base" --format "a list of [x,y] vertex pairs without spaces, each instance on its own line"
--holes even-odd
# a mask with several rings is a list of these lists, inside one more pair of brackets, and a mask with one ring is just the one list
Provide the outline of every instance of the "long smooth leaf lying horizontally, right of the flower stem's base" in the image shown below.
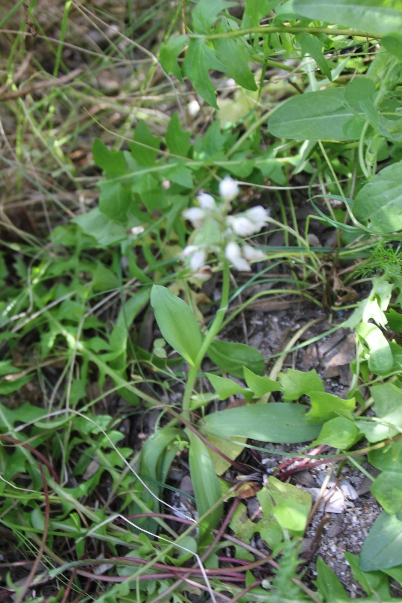
[[306,406],[286,402],[252,404],[213,412],[199,426],[207,434],[222,437],[253,438],[277,444],[295,444],[314,440],[320,426],[304,421]]

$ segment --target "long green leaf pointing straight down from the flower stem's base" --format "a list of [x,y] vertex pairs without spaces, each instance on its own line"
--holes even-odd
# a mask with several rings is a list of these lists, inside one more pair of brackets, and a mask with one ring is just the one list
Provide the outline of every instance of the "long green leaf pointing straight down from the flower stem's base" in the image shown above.
[[[188,436],[190,440],[190,476],[194,488],[198,517],[201,517],[218,502],[222,497],[222,493],[212,459],[205,444],[192,431],[188,432]],[[222,505],[215,508],[200,523],[199,539],[201,541],[211,534],[213,528],[216,528],[221,516]]]

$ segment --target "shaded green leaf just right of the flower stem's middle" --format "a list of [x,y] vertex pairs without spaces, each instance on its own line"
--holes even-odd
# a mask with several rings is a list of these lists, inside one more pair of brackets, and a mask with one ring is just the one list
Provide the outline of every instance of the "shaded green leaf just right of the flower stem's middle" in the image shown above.
[[243,377],[244,367],[257,374],[262,373],[265,368],[262,353],[243,343],[213,341],[207,354],[223,373],[229,373],[239,379]]

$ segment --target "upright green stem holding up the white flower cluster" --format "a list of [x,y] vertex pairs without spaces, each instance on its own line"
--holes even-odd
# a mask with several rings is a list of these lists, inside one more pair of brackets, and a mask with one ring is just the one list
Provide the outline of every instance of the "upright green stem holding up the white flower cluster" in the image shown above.
[[218,312],[216,312],[212,325],[203,341],[203,345],[199,349],[198,356],[196,357],[194,364],[190,367],[189,370],[189,377],[187,379],[186,389],[184,390],[183,395],[183,411],[181,412],[181,416],[185,421],[190,421],[190,399],[193,393],[196,378],[198,376],[199,367],[201,366],[201,362],[203,362],[204,356],[206,355],[209,346],[212,344],[216,335],[218,335],[219,330],[221,329],[222,323],[224,321],[225,314],[227,312],[230,282],[230,270],[229,263],[227,262],[227,260],[224,260],[222,276],[222,297],[219,310]]

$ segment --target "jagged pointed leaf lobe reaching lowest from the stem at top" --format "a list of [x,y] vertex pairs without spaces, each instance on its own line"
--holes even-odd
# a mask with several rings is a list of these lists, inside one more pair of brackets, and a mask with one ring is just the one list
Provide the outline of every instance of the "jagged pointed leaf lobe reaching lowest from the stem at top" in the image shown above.
[[194,89],[214,109],[218,109],[215,98],[215,86],[209,78],[209,69],[225,72],[225,65],[218,60],[215,51],[210,48],[206,40],[192,39],[183,61],[183,74],[186,75]]

